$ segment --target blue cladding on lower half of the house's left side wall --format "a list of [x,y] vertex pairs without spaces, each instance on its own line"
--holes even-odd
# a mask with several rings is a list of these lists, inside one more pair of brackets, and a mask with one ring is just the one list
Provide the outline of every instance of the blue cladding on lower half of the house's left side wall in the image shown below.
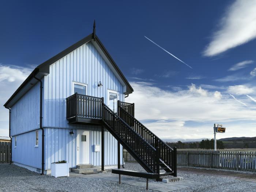
[[30,131],[12,139],[12,161],[42,168],[42,131],[38,129],[38,147],[35,147],[35,131]]

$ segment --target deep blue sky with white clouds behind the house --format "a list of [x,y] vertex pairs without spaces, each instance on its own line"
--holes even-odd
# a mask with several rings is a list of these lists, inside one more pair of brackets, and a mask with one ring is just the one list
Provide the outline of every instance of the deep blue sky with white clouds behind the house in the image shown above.
[[[0,102],[34,67],[92,33],[95,19],[98,37],[135,89],[127,101],[152,131],[211,138],[212,125],[222,123],[227,133],[219,138],[256,136],[255,13],[254,0],[2,2]],[[8,110],[0,115],[0,135],[7,136]]]

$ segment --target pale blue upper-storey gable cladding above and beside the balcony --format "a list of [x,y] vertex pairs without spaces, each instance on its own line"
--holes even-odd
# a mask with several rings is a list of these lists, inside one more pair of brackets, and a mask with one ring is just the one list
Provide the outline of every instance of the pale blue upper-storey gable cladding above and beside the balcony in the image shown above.
[[[123,85],[91,42],[84,44],[56,63],[50,65],[50,74],[44,81],[44,127],[84,128],[69,125],[66,119],[66,98],[73,93],[73,83],[87,84],[87,95],[107,98],[107,90],[120,93],[123,101]],[[102,87],[98,87],[101,81]]]

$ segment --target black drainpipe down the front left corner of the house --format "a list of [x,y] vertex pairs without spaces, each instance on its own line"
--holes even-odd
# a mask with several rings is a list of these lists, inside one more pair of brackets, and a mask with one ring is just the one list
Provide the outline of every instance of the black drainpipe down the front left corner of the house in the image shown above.
[[42,94],[43,94],[43,83],[41,79],[38,79],[35,74],[33,74],[34,78],[40,82],[40,129],[42,130],[42,173],[41,175],[44,174],[44,135],[45,131],[44,128],[42,128]]

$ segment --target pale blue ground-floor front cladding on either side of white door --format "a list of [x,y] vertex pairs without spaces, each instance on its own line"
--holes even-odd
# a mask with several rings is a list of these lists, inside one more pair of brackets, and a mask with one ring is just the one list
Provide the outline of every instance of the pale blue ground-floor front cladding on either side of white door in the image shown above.
[[[101,131],[89,126],[90,131],[90,163],[94,166],[101,166],[101,152],[94,152],[94,145],[101,145]],[[51,163],[66,160],[69,167],[76,167],[76,135],[77,130],[73,129],[74,135],[69,134],[70,129],[45,128],[45,169],[51,169]],[[108,132],[105,137],[105,165],[117,165],[117,140]],[[122,151],[122,148],[120,149]],[[122,153],[121,153],[122,154]],[[122,163],[123,155],[121,155]]]

